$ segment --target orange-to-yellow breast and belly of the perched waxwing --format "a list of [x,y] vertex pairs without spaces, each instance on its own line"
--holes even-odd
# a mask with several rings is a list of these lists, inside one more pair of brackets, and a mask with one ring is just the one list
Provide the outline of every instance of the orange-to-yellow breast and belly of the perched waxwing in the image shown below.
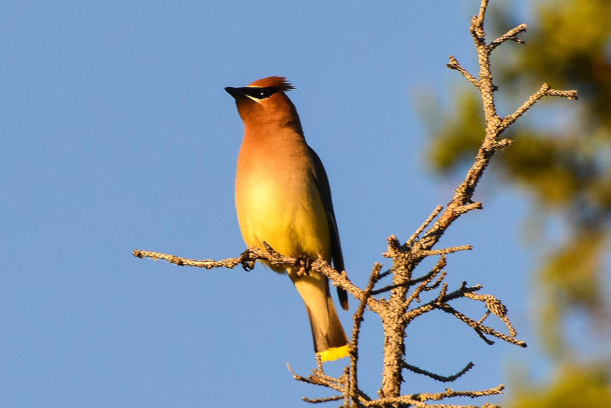
[[241,149],[235,199],[247,246],[262,247],[265,241],[288,257],[330,257],[326,211],[308,158]]

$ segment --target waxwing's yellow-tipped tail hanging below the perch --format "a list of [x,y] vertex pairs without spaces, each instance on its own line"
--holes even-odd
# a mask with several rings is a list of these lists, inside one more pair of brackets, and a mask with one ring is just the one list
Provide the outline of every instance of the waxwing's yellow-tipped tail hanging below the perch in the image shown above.
[[314,351],[322,361],[337,360],[348,355],[348,338],[337,316],[329,294],[327,278],[318,272],[297,277],[288,271],[305,303],[312,328]]

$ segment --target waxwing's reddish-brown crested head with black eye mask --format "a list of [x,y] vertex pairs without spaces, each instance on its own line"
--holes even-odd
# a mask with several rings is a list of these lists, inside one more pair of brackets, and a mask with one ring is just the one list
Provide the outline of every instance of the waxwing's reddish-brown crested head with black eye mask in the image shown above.
[[245,126],[291,126],[301,133],[295,105],[285,94],[291,89],[295,87],[283,76],[269,76],[245,87],[226,87],[225,91],[235,99]]

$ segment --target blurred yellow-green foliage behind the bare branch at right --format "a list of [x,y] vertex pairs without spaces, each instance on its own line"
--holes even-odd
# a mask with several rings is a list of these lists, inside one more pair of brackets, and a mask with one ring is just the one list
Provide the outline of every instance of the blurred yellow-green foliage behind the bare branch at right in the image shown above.
[[[512,4],[489,9],[488,40],[523,22],[512,16]],[[508,110],[499,114],[513,111],[543,82],[577,89],[579,101],[536,104],[503,134],[513,145],[491,168],[499,181],[528,192],[533,214],[560,219],[564,227],[560,242],[538,241],[534,267],[542,296],[535,326],[554,361],[553,379],[520,385],[510,405],[611,407],[611,354],[575,363],[564,326],[575,311],[590,318],[594,331],[611,324],[602,285],[611,242],[611,1],[536,0],[531,6],[533,21],[521,35],[526,44],[507,43],[492,54],[497,106]],[[466,85],[452,107],[437,107],[441,120],[431,130],[427,161],[440,173],[463,171],[484,136],[481,97],[461,80]],[[537,224],[525,234],[540,234]]]

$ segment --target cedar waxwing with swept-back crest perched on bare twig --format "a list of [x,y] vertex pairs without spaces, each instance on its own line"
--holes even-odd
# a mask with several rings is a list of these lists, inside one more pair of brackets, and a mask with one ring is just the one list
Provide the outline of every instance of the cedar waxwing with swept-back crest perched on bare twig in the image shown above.
[[[318,253],[343,271],[342,249],[331,203],[329,180],[320,158],[305,143],[295,106],[285,91],[295,89],[285,78],[270,76],[249,86],[227,87],[244,122],[238,154],[235,206],[246,245],[263,248],[265,241],[287,257]],[[348,339],[319,272],[298,277],[295,266],[272,266],[288,272],[310,318],[314,351],[322,361],[348,355]],[[348,310],[346,291],[337,288]]]

